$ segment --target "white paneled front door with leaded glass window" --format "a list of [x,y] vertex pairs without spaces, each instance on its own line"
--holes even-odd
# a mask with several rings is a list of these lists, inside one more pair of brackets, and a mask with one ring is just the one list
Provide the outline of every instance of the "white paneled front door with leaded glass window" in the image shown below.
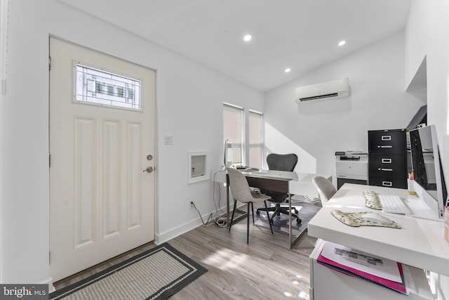
[[56,281],[154,240],[155,72],[59,39],[50,54]]

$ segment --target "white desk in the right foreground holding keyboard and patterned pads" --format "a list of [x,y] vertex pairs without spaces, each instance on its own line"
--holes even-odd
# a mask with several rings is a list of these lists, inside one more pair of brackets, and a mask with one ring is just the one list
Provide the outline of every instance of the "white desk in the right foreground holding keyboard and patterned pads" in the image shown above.
[[[308,234],[322,240],[399,261],[408,266],[449,275],[449,243],[443,237],[443,222],[412,216],[387,214],[401,229],[375,226],[351,227],[335,219],[330,211],[375,211],[365,206],[363,190],[398,195],[408,201],[415,213],[426,216],[424,201],[407,190],[345,183],[308,224]],[[377,211],[379,212],[379,211]],[[311,275],[312,276],[312,275]],[[311,278],[311,290],[313,290]],[[316,283],[316,282],[315,282]],[[351,287],[349,286],[349,290]]]

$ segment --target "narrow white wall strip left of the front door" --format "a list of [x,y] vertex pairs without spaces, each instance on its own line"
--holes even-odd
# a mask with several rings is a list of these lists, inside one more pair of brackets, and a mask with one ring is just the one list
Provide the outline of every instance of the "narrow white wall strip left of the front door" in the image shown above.
[[45,19],[45,3],[9,1],[8,85],[1,103],[1,278],[8,283],[49,280]]

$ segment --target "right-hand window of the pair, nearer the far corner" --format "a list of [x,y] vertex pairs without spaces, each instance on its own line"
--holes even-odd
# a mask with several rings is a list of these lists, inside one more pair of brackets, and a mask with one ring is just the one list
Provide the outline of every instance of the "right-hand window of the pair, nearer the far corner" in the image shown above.
[[262,113],[249,111],[249,166],[262,169]]

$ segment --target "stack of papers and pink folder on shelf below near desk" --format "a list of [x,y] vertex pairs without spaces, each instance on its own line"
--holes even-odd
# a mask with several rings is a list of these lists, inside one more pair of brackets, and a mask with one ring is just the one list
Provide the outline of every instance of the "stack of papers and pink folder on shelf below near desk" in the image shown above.
[[317,261],[341,273],[408,294],[401,263],[326,242]]

